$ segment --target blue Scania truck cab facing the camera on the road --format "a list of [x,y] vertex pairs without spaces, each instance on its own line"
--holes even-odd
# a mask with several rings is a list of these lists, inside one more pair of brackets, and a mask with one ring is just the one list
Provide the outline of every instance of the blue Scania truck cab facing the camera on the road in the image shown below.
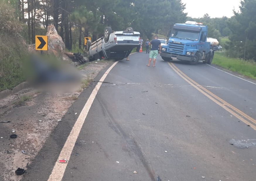
[[167,45],[163,45],[160,56],[165,61],[185,60],[196,65],[199,60],[211,64],[214,50],[207,42],[207,26],[194,21],[175,24]]

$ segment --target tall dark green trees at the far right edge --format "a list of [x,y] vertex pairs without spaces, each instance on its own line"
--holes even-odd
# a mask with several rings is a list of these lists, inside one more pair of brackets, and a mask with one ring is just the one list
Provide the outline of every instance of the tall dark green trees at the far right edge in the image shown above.
[[256,0],[241,1],[240,12],[228,21],[231,30],[228,54],[256,61]]

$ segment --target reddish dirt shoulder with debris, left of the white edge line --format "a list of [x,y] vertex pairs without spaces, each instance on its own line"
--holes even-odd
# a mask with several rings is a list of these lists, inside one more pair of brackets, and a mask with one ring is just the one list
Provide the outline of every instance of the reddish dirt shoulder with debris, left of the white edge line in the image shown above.
[[[90,62],[81,69],[85,79],[94,79],[98,72],[110,62]],[[86,91],[86,90],[85,90]],[[77,99],[81,92],[50,95],[25,89],[0,101],[0,120],[11,121],[0,123],[0,180],[19,181],[22,176],[15,175],[15,170],[29,169],[29,164],[43,146],[46,138],[62,119],[65,112]],[[14,105],[13,101],[23,95],[30,99]],[[39,121],[42,120],[42,121]],[[18,138],[11,139],[11,131],[15,130]],[[29,154],[22,153],[22,150]]]

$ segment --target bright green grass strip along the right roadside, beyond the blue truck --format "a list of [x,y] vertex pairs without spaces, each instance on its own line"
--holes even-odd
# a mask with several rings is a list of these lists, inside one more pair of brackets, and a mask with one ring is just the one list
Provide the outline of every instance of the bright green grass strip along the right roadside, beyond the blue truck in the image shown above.
[[221,52],[215,52],[212,63],[252,79],[256,79],[256,63],[253,61],[228,58]]

